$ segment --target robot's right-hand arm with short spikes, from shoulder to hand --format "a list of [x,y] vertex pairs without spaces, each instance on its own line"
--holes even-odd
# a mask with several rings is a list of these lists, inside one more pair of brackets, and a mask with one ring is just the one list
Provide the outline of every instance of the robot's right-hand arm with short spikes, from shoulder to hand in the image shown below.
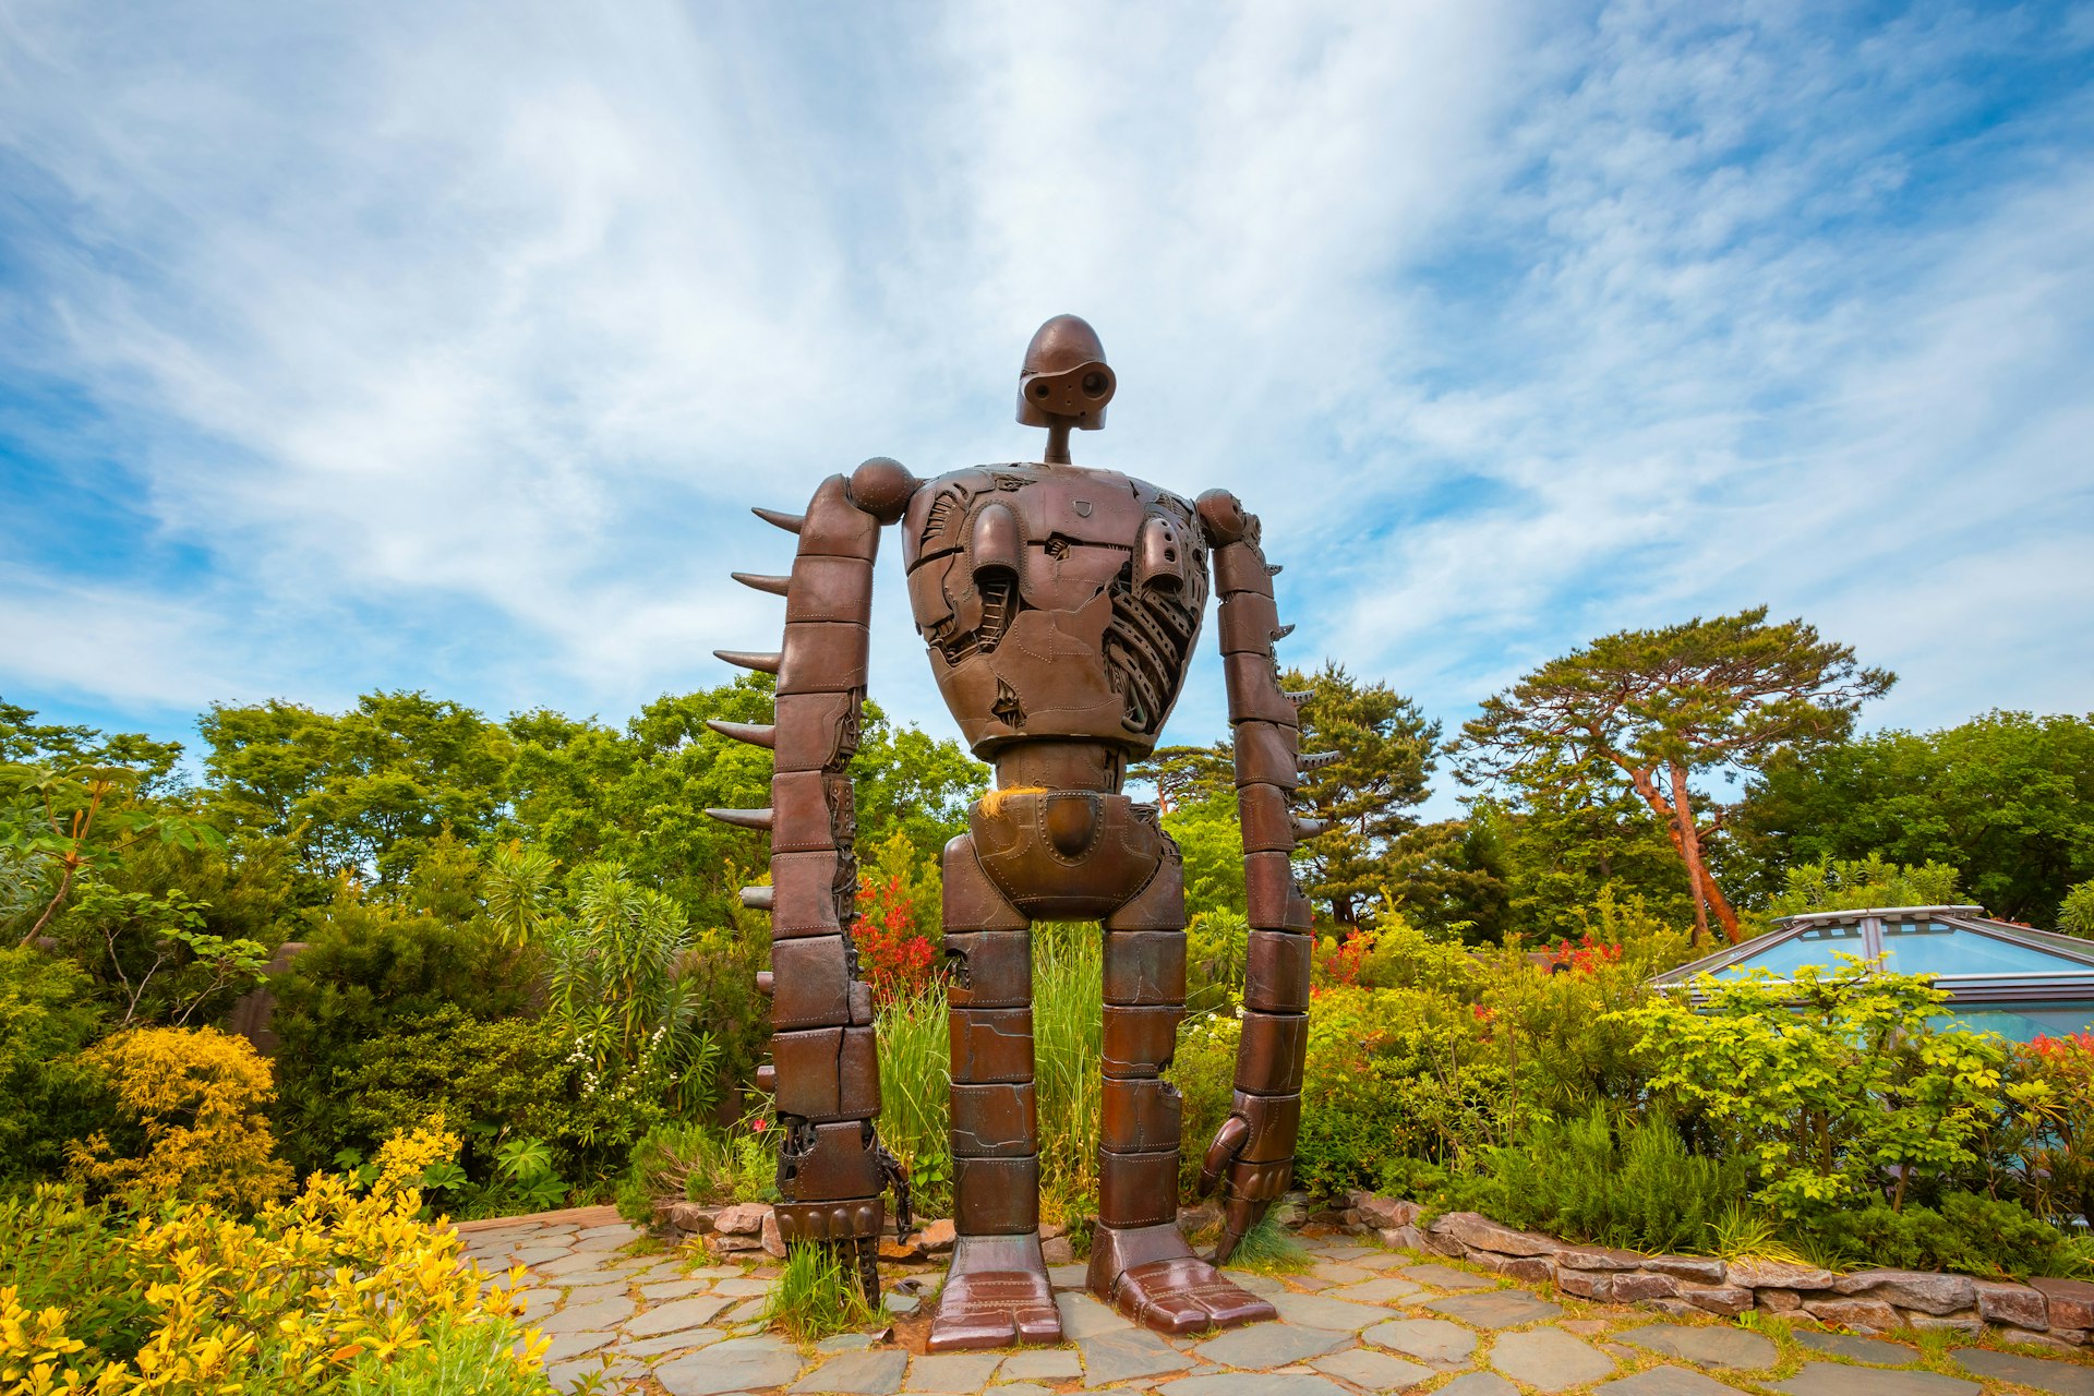
[[[1235,806],[1244,825],[1244,887],[1250,948],[1244,965],[1244,1036],[1235,1051],[1235,1101],[1200,1166],[1200,1191],[1223,1185],[1223,1262],[1288,1189],[1309,1051],[1309,900],[1294,883],[1294,841],[1321,833],[1290,812],[1305,764],[1298,758],[1305,695],[1279,691],[1273,640],[1279,626],[1273,573],[1258,548],[1258,519],[1225,492],[1200,496],[1200,523],[1215,555],[1221,594],[1221,659],[1235,735]],[[1313,766],[1311,766],[1313,768]]]

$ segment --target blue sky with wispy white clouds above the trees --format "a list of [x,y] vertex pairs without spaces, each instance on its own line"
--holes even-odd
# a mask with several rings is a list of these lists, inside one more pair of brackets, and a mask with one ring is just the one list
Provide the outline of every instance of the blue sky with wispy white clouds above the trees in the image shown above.
[[2094,707],[2094,8],[1512,0],[0,0],[0,695],[622,720],[775,634],[748,504],[1032,458],[1062,310],[1076,458],[1449,730],[1755,603]]

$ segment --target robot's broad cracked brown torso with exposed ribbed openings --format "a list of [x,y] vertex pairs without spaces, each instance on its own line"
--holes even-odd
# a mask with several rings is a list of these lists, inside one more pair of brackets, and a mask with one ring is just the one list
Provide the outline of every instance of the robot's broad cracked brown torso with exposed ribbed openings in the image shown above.
[[1206,609],[1185,500],[1108,471],[957,471],[911,500],[903,559],[932,674],[978,753],[1156,743]]

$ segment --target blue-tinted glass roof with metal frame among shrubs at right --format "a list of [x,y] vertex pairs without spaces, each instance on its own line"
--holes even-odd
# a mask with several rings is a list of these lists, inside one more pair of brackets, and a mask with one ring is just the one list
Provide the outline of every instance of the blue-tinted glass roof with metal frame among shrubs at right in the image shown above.
[[1692,986],[1803,965],[1832,969],[1841,954],[1893,973],[1933,975],[1947,990],[1947,1017],[2029,1040],[2094,1026],[2094,942],[1996,921],[1983,906],[1868,906],[1782,917],[1765,936],[1725,946],[1652,980]]

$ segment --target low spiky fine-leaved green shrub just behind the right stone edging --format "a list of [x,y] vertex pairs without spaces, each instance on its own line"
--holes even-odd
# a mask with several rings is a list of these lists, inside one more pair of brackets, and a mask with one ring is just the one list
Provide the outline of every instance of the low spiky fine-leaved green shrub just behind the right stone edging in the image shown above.
[[1480,1172],[1449,1193],[1510,1226],[1644,1252],[1711,1252],[1725,1208],[1746,1195],[1742,1159],[1688,1153],[1665,1120],[1612,1128],[1529,1120],[1516,1143],[1485,1149]]

